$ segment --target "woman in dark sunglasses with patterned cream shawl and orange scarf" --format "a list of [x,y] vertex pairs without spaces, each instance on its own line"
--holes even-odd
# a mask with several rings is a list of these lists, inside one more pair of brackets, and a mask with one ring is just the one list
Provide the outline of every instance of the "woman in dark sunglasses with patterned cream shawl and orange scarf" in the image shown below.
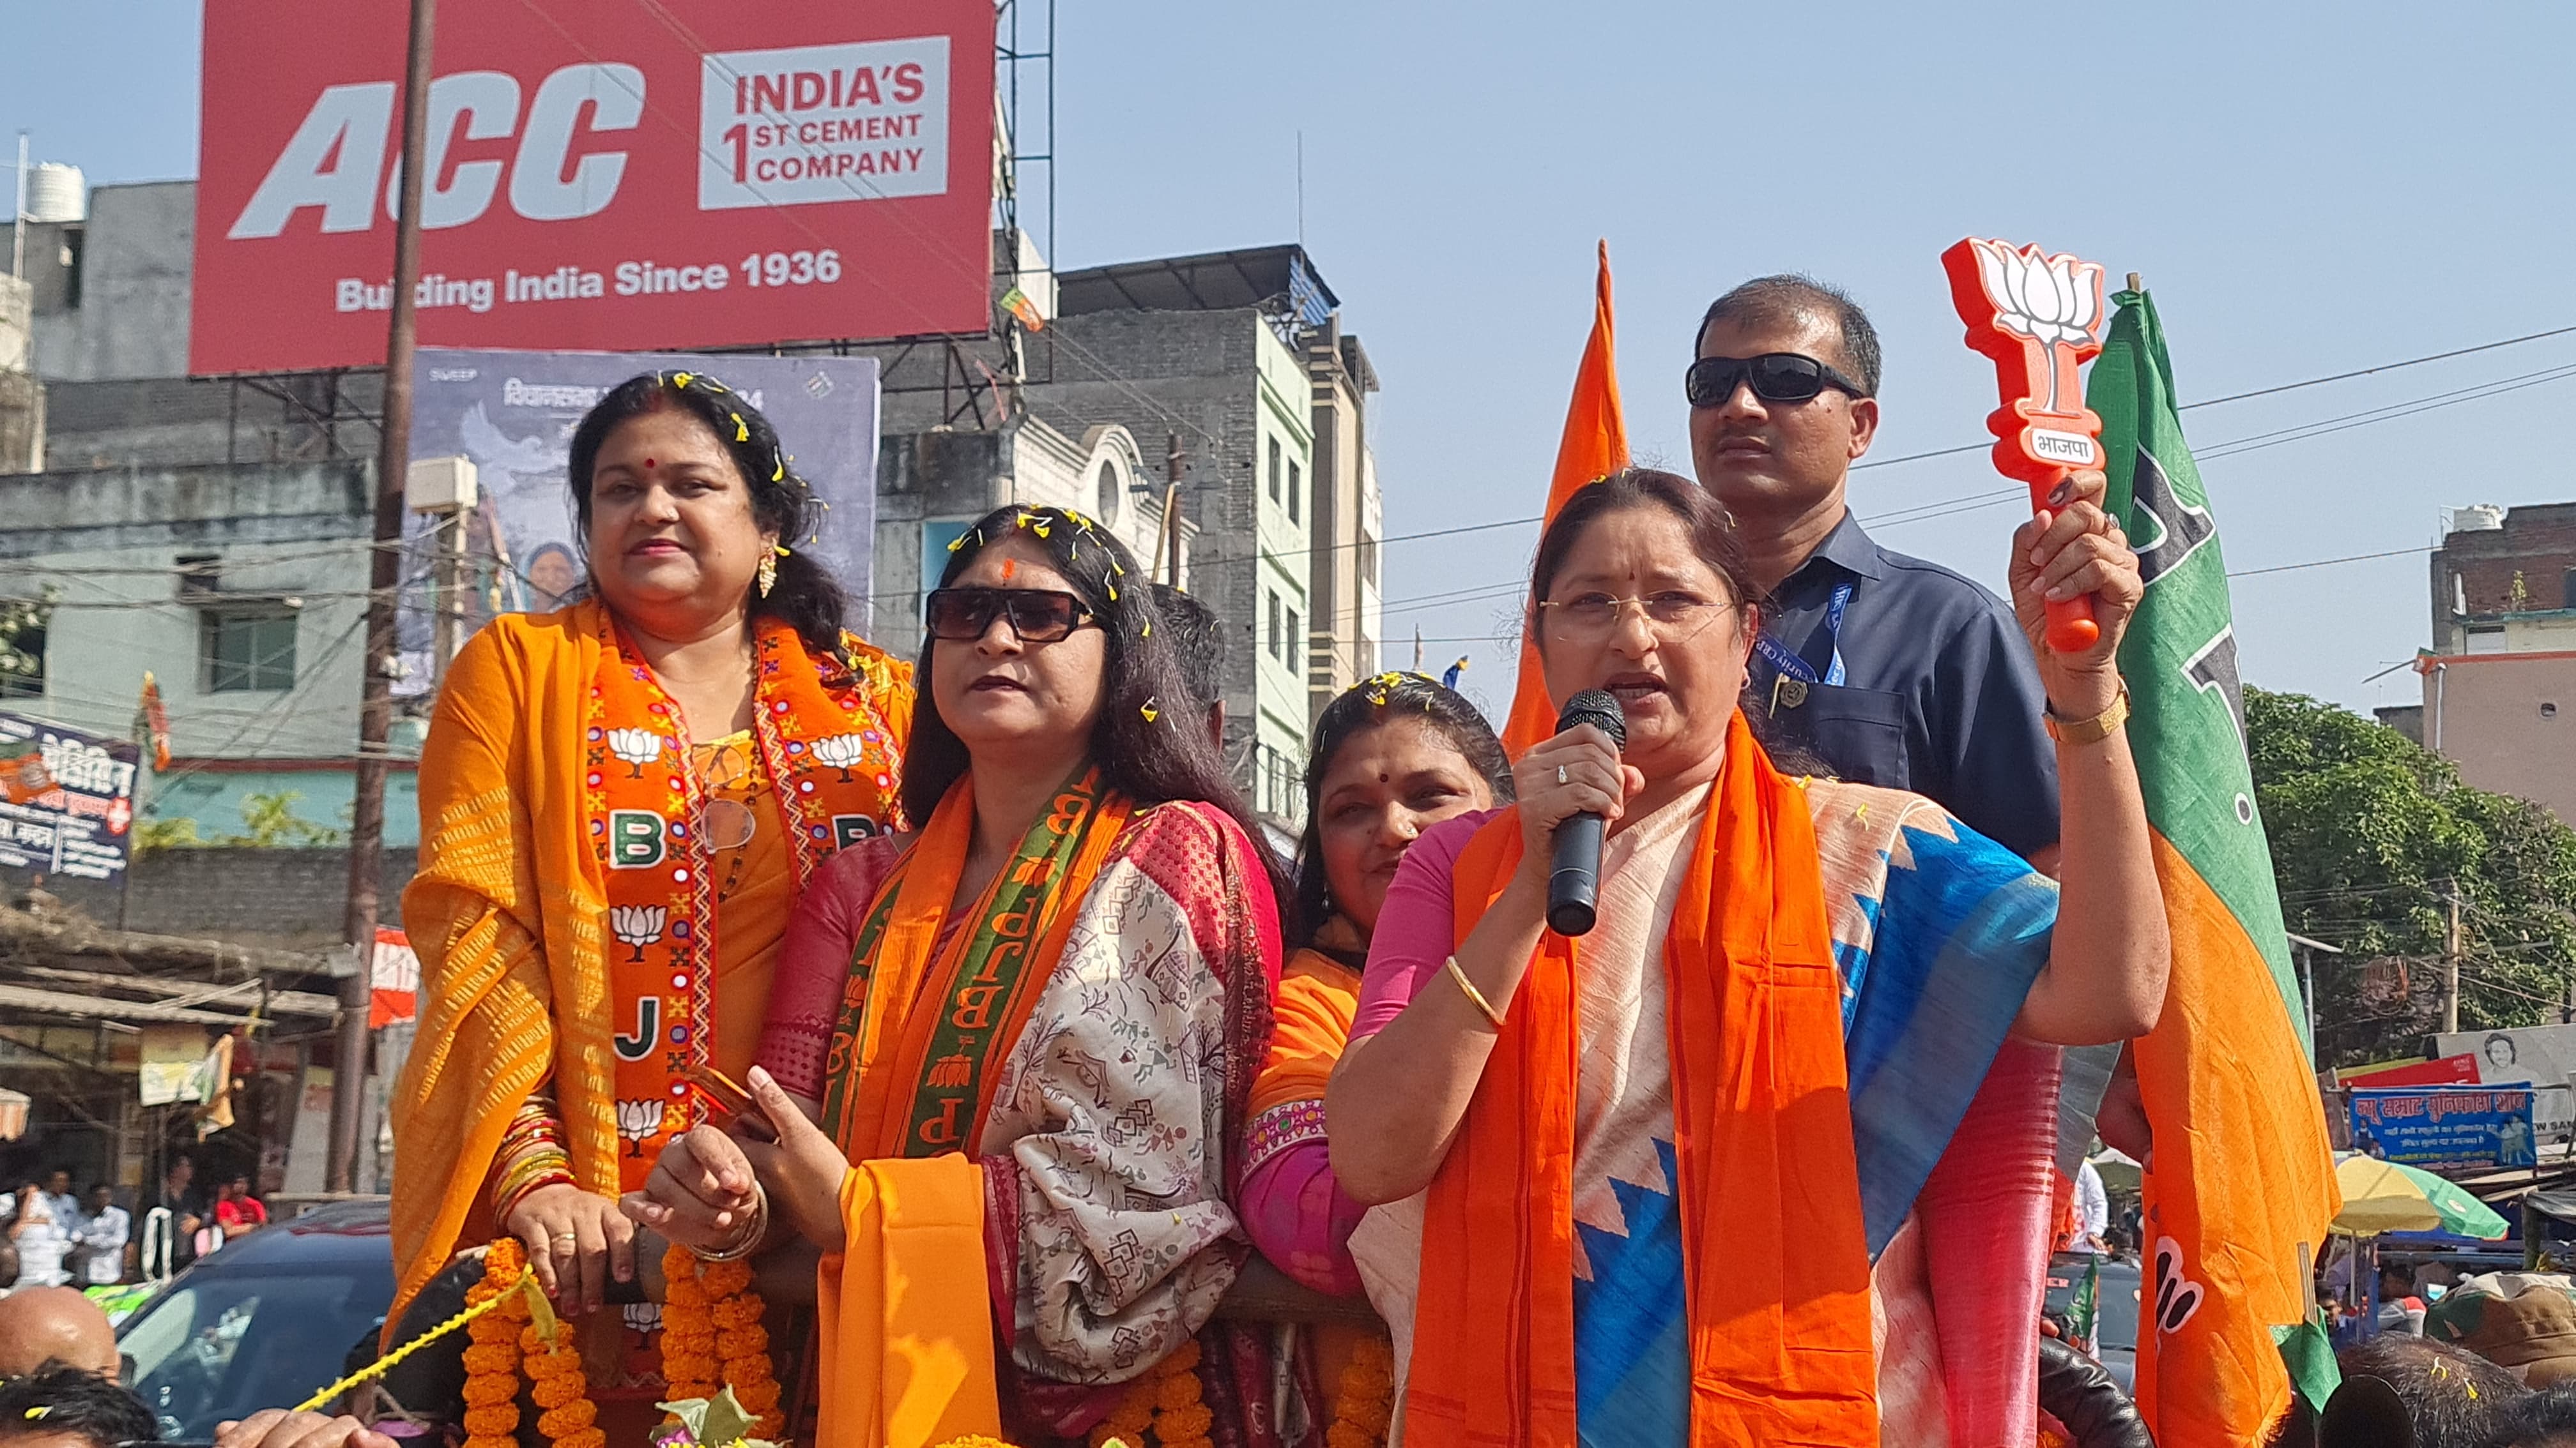
[[631,1198],[677,1242],[747,1250],[775,1219],[827,1252],[827,1448],[1051,1443],[1157,1402],[1167,1443],[1218,1412],[1270,1440],[1267,1350],[1211,1317],[1244,1255],[1278,894],[1151,598],[1079,513],[956,544],[917,665],[920,832],[832,861],[791,928],[750,1082],[778,1141],[693,1131]]

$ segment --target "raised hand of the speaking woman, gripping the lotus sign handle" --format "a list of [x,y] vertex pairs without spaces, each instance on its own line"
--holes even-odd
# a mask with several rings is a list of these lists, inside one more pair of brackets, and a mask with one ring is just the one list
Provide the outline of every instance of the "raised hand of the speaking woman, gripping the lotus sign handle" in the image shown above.
[[[2061,719],[2094,719],[2120,698],[2120,636],[2146,598],[2138,554],[2128,533],[2102,510],[2110,482],[2099,472],[2074,472],[2012,533],[2012,613],[2038,654],[2040,683]],[[2102,636],[2076,654],[2048,647],[2048,603],[2084,598]]]

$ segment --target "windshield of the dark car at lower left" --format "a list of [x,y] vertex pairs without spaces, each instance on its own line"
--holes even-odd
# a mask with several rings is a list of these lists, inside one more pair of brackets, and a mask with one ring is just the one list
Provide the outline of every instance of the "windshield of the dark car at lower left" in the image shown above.
[[392,1291],[384,1268],[188,1273],[118,1332],[126,1384],[162,1438],[214,1438],[216,1422],[294,1407],[337,1378],[353,1348],[374,1348]]

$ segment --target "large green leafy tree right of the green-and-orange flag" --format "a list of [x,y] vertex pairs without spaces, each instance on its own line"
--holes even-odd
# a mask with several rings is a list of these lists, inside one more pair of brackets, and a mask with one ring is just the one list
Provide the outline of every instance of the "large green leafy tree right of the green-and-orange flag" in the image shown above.
[[2246,688],[2246,747],[2290,930],[2316,964],[2318,1064],[2414,1056],[2439,1028],[2447,899],[2460,899],[2460,1028],[2566,1020],[2576,830],[2385,724]]

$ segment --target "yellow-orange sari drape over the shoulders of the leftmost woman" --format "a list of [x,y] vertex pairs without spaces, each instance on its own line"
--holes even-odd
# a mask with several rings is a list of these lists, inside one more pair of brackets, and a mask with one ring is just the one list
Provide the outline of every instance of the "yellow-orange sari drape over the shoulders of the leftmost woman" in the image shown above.
[[[420,871],[402,894],[402,920],[420,951],[420,1028],[392,1100],[402,1152],[394,1165],[397,1288],[389,1327],[446,1268],[459,1242],[482,1242],[497,1229],[487,1190],[492,1157],[510,1116],[549,1080],[564,1147],[585,1188],[616,1196],[621,1167],[652,1165],[652,1157],[636,1154],[634,1139],[621,1136],[629,1121],[621,1121],[616,1036],[634,1031],[639,1018],[634,1002],[618,1018],[634,956],[641,951],[654,961],[662,940],[623,940],[611,907],[626,889],[616,876],[654,871],[613,871],[598,858],[592,835],[592,824],[605,827],[600,809],[611,801],[590,786],[603,763],[592,755],[608,745],[605,737],[590,739],[590,729],[631,724],[592,716],[600,675],[616,667],[611,636],[613,621],[600,603],[544,616],[507,613],[466,644],[438,698],[420,755]],[[878,729],[894,739],[912,727],[909,665],[842,636],[858,678],[848,688],[819,688],[814,660],[793,634],[765,629],[760,644],[760,698],[773,711],[788,706],[765,729],[765,747],[775,742],[811,760],[817,739],[850,732],[858,719],[871,721],[858,724],[860,732]],[[641,755],[634,745],[629,752]],[[840,755],[840,747],[824,755]],[[680,755],[657,750],[657,757]],[[616,768],[603,776],[634,783],[639,770],[629,765],[641,760],[621,760],[611,747],[605,763]],[[853,832],[866,832],[858,827],[863,817],[891,822],[891,773],[884,786],[873,773],[853,773],[850,781],[840,773],[781,770],[773,757],[773,781],[806,781],[814,796],[832,801],[824,819],[806,817],[804,806],[791,817],[781,804],[781,822],[799,819],[811,830],[850,814]],[[667,788],[662,778],[647,776],[647,783]],[[649,830],[636,835],[636,848],[652,843]],[[819,845],[829,853],[835,843]],[[688,915],[672,915],[665,902],[665,938]],[[626,915],[626,925],[623,935],[641,938],[654,920]],[[667,1033],[670,1020],[662,1028]],[[737,1028],[757,1033],[760,1023]]]

